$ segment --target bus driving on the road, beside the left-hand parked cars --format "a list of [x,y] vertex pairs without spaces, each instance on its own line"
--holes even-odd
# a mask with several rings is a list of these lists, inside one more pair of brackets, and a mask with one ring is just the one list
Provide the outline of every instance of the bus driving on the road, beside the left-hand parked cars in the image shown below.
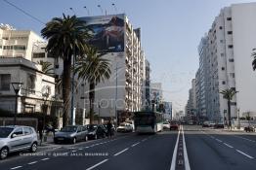
[[157,112],[142,111],[134,113],[135,132],[156,133],[163,130],[163,115]]

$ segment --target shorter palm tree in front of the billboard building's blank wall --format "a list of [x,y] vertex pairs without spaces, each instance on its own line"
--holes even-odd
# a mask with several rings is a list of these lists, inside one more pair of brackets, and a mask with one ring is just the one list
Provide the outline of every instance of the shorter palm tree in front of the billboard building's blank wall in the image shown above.
[[109,62],[103,55],[96,48],[88,47],[86,57],[79,58],[75,67],[78,79],[89,83],[90,123],[94,119],[95,86],[109,79],[111,74]]

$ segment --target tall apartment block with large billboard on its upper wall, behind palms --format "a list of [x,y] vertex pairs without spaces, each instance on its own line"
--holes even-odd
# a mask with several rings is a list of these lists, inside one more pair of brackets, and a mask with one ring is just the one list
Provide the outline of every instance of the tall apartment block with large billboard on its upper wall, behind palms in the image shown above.
[[[101,118],[119,119],[141,110],[146,80],[149,84],[149,62],[141,47],[141,29],[134,29],[128,17],[121,15],[80,17],[93,30],[88,43],[104,52],[110,63],[110,79],[96,85],[94,109]],[[33,51],[33,61],[48,61],[60,78],[62,59],[51,58],[40,44]],[[147,71],[147,76],[146,76]],[[77,114],[89,113],[89,85],[75,77],[74,106]]]

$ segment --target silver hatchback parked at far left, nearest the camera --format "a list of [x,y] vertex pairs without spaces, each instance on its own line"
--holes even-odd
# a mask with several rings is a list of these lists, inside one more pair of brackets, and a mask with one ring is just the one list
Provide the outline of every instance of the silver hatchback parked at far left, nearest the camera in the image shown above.
[[37,134],[33,127],[11,125],[0,126],[0,158],[4,159],[8,153],[37,150]]

